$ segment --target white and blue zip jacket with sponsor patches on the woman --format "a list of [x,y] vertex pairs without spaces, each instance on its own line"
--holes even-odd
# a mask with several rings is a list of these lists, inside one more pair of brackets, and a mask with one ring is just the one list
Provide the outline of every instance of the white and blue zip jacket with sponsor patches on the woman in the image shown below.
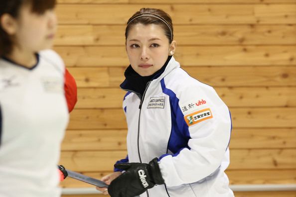
[[121,162],[157,157],[165,182],[141,197],[234,197],[224,173],[231,116],[212,87],[190,77],[171,57],[142,98],[127,93],[123,108],[128,157]]

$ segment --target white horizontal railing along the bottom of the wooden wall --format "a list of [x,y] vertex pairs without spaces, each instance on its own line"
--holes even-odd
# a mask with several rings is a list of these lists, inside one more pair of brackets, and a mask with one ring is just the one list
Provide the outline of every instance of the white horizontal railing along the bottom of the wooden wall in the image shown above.
[[[264,184],[264,185],[231,185],[234,192],[259,192],[259,191],[296,191],[296,184]],[[102,194],[95,188],[63,188],[63,195],[88,195]]]

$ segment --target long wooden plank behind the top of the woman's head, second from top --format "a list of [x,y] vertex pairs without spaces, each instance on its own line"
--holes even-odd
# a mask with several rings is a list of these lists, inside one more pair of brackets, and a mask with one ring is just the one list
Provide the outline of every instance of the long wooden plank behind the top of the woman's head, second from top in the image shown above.
[[142,7],[165,10],[174,24],[296,24],[291,4],[58,4],[56,11],[60,24],[125,24]]

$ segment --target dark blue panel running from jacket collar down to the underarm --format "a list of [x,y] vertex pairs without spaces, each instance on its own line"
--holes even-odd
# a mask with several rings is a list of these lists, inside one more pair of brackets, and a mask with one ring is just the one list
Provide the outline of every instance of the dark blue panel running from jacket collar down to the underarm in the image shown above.
[[[173,157],[177,156],[183,148],[188,148],[188,141],[191,138],[188,125],[184,120],[184,115],[179,107],[179,99],[176,94],[165,87],[164,79],[160,81],[162,92],[169,96],[171,109],[171,133],[167,144],[167,149],[173,153]],[[161,157],[162,158],[162,157]]]

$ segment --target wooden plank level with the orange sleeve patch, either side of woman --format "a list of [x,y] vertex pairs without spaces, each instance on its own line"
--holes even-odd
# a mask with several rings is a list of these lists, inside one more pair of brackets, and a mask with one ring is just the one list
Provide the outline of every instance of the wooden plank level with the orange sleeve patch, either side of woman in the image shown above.
[[[296,127],[296,108],[230,108],[235,128]],[[68,129],[126,129],[123,109],[74,109]]]

